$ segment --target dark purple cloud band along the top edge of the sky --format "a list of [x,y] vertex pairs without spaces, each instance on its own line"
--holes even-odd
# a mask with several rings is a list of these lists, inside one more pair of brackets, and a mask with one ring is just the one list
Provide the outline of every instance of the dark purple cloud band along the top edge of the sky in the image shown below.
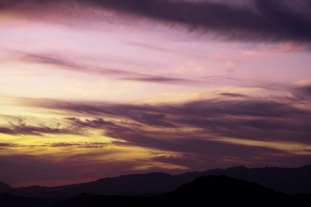
[[[252,0],[248,2],[251,6],[189,0],[74,0],[72,4],[51,0],[0,2],[2,8],[17,7],[18,11],[23,10],[24,13],[30,13],[30,10],[39,13],[44,10],[62,15],[64,12],[57,12],[62,9],[68,11],[67,17],[71,15],[72,18],[77,18],[77,12],[83,9],[85,12],[82,12],[82,16],[87,18],[91,15],[86,12],[87,8],[101,8],[102,13],[117,12],[114,16],[106,17],[109,21],[119,18],[120,22],[129,21],[133,24],[147,18],[168,25],[183,25],[190,31],[214,34],[218,38],[229,40],[311,41],[309,1],[296,3],[291,0]],[[77,4],[74,8],[78,11],[69,6]],[[98,16],[95,17],[98,20]]]

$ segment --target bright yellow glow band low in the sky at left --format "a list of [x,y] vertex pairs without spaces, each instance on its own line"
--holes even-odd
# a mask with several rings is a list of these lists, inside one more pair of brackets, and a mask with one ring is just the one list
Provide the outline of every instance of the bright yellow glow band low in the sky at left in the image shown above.
[[[92,132],[96,134],[96,132]],[[0,134],[1,143],[15,144],[0,151],[0,155],[27,154],[40,156],[50,162],[75,161],[79,156],[79,162],[107,163],[107,162],[139,162],[132,170],[144,170],[152,167],[162,169],[186,169],[184,166],[166,164],[152,161],[155,156],[178,156],[178,153],[163,150],[149,149],[139,146],[118,145],[113,141],[121,141],[114,138],[97,136],[85,137],[77,135],[46,135],[42,136],[12,136]],[[89,144],[99,143],[99,147],[88,147]],[[100,145],[102,143],[102,145]],[[55,145],[56,144],[56,145]],[[64,146],[61,146],[61,145]],[[68,144],[68,146],[66,146]],[[97,144],[98,145],[98,144]]]

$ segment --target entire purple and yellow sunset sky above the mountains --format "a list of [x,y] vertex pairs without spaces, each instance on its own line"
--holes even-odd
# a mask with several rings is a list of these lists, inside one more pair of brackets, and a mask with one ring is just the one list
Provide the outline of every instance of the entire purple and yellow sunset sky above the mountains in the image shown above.
[[310,0],[0,0],[0,181],[310,163]]

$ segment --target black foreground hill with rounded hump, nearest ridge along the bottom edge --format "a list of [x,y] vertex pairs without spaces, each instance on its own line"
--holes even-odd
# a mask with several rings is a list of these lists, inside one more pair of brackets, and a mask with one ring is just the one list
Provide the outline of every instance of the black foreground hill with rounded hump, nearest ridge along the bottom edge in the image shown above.
[[295,197],[226,176],[203,176],[151,198],[81,194],[57,207],[303,207],[309,198],[310,195]]

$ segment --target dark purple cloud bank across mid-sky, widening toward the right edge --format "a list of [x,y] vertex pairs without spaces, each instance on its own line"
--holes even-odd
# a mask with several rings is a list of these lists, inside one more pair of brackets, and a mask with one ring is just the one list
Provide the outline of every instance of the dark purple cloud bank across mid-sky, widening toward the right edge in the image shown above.
[[[226,94],[225,96],[227,96]],[[283,100],[283,101],[282,101]],[[25,101],[25,100],[24,100]],[[183,137],[230,137],[263,141],[295,141],[310,144],[311,112],[294,107],[287,97],[279,102],[265,98],[196,100],[182,104],[114,104],[105,102],[64,102],[26,100],[25,104],[78,113],[121,119],[122,123],[110,123],[100,119],[80,121],[72,119],[73,125],[108,130],[112,138],[133,141],[149,135],[148,128],[172,130],[169,135],[159,131],[153,138],[177,136],[174,130],[196,129],[199,132],[185,133]],[[297,101],[299,103],[299,101]],[[123,136],[123,137],[122,137]],[[161,137],[161,138],[159,138]],[[139,141],[137,141],[139,142]]]

